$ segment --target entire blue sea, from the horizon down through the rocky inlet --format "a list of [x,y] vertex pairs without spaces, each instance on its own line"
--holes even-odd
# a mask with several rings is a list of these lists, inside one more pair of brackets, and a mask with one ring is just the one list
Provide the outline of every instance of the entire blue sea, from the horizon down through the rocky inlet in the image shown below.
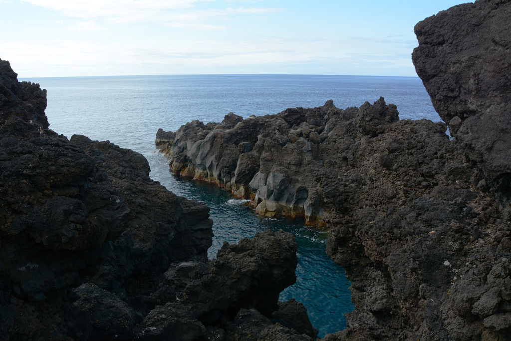
[[158,128],[176,131],[200,120],[220,122],[228,112],[248,117],[288,107],[316,107],[333,99],[342,109],[373,103],[380,96],[398,106],[401,119],[440,121],[419,78],[303,75],[122,76],[23,79],[48,90],[50,128],[71,138],[83,134],[109,140],[142,153],[151,177],[170,191],[211,208],[215,237],[208,254],[215,257],[224,240],[236,243],[257,232],[283,229],[298,243],[296,284],[281,300],[302,302],[319,335],[346,327],[353,309],[344,270],[325,254],[328,232],[300,221],[260,218],[215,186],[175,178],[154,146]]

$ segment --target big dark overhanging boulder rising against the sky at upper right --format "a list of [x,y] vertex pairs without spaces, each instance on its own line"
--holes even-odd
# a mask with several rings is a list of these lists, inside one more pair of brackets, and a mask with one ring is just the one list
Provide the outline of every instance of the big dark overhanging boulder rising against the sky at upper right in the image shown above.
[[415,25],[412,60],[451,134],[467,155],[509,187],[511,2],[478,0]]

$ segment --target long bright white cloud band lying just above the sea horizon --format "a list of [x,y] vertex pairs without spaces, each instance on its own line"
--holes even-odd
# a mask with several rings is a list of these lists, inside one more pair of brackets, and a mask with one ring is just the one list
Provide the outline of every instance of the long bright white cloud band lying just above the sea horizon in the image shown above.
[[[188,46],[169,41],[160,47],[146,43],[53,40],[44,45],[7,44],[4,56],[16,62],[16,70],[22,77],[119,75],[127,69],[130,74],[138,75],[226,73],[230,67],[250,73],[253,65],[285,67],[285,70],[294,65],[313,65],[318,60],[324,65],[341,56],[338,50],[329,50],[330,46],[329,41],[282,39],[253,39],[243,43],[202,40],[190,42]],[[322,51],[321,56],[318,51]],[[35,74],[29,71],[33,70],[34,54],[38,56]],[[45,70],[52,70],[52,74]]]

